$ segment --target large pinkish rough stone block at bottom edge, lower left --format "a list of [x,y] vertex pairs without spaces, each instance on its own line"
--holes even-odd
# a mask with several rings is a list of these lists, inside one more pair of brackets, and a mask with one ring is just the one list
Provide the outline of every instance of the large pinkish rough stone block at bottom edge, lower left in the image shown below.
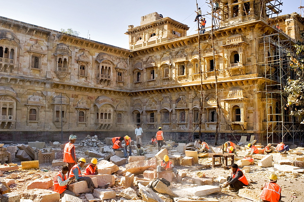
[[25,199],[33,200],[34,202],[58,202],[60,194],[47,189],[31,189],[22,193]]

